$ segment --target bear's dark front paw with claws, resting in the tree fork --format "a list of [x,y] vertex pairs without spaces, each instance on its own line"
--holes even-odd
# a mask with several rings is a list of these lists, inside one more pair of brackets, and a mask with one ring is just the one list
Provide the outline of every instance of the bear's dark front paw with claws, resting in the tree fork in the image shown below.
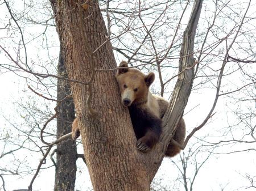
[[139,151],[147,152],[158,142],[158,139],[158,134],[152,130],[148,130],[147,133],[137,141],[136,146]]

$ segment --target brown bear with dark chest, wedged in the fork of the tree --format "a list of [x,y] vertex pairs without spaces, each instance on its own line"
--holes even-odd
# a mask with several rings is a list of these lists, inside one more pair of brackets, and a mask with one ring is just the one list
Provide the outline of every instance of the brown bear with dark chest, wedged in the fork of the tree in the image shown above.
[[[122,61],[119,67],[127,67]],[[137,148],[147,152],[159,141],[162,133],[162,118],[168,107],[163,97],[151,94],[149,88],[154,82],[155,74],[143,74],[138,69],[120,68],[115,75],[121,91],[122,104],[129,108],[131,122],[137,138]],[[185,138],[185,122],[179,121],[173,137],[181,145]],[[175,156],[180,148],[170,143],[166,156]]]

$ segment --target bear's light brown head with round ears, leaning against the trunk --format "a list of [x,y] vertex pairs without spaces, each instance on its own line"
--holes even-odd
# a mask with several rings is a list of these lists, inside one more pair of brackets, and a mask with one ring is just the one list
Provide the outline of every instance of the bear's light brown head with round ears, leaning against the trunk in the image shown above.
[[155,74],[143,74],[138,69],[127,68],[128,64],[122,61],[115,78],[117,79],[122,97],[122,104],[129,107],[147,102],[150,85],[155,80]]

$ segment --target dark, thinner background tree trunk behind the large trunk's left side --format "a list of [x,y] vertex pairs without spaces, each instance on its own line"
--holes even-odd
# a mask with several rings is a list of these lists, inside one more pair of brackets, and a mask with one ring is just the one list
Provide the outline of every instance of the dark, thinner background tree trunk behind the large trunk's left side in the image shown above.
[[[67,77],[63,56],[59,56],[58,75]],[[57,81],[57,100],[71,94],[71,88],[67,80],[58,79]],[[57,138],[71,131],[71,124],[75,118],[75,106],[73,99],[68,98],[59,107],[57,117]],[[76,181],[76,142],[73,140],[64,141],[57,145],[56,150],[56,172],[55,172],[55,191],[73,191]]]

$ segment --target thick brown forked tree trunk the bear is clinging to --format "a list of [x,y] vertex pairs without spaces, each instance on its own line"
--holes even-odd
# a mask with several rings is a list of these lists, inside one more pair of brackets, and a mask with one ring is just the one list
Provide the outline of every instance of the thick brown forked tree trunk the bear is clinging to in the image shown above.
[[[69,79],[88,82],[93,73],[92,64],[96,69],[113,69],[117,66],[112,45],[110,42],[105,43],[107,30],[97,1],[51,0],[51,3]],[[84,8],[81,11],[81,26],[79,5],[82,3]],[[197,26],[197,21],[192,24]],[[100,48],[93,53],[93,57],[90,57],[90,51],[94,52],[98,47]],[[184,52],[184,55],[188,55],[188,52]],[[190,58],[191,56],[189,62]],[[192,64],[181,63],[181,70]],[[170,133],[174,131],[187,104],[193,70],[185,70],[179,78],[181,84],[177,86],[179,89],[175,90],[176,94],[172,99],[174,104],[169,108],[176,113],[170,117],[170,112],[167,112],[166,118],[172,124],[170,128],[164,129],[167,135],[162,136],[163,143],[158,143],[147,154],[142,154],[135,147],[136,138],[129,112],[121,105],[114,73],[95,73],[90,103],[97,112],[96,117],[90,116],[86,105],[88,86],[71,83],[90,179],[94,191],[148,191],[171,139]],[[181,96],[179,105],[177,96]]]

